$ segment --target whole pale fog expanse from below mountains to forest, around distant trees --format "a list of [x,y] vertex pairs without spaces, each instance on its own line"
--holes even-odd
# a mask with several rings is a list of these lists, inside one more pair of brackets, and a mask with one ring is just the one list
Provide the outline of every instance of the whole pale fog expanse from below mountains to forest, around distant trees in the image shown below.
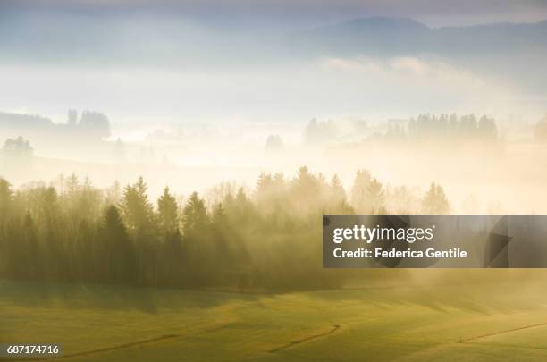
[[[541,212],[547,197],[540,186],[547,175],[534,164],[543,148],[516,142],[531,139],[529,125],[547,109],[545,100],[434,57],[320,58],[208,72],[4,65],[0,79],[5,90],[0,110],[61,123],[69,107],[92,109],[107,114],[112,124],[98,151],[85,143],[64,145],[52,136],[29,138],[36,156],[32,166],[17,174],[0,172],[16,186],[52,181],[59,173],[88,175],[101,187],[143,175],[152,195],[165,185],[188,194],[221,181],[252,189],[262,171],[291,176],[306,164],[327,178],[338,173],[346,189],[359,168],[386,186],[425,190],[440,182],[452,212],[470,212],[473,205],[477,213]],[[336,148],[382,130],[387,120],[421,113],[487,114],[497,120],[509,146],[501,153],[374,143]],[[332,134],[328,145],[307,147],[303,132],[312,118],[348,130],[343,137]],[[353,134],[356,122],[366,124],[368,133]],[[265,151],[272,134],[284,144],[274,154]],[[0,137],[4,142],[19,135]],[[123,160],[112,157],[116,139],[125,147]],[[523,188],[534,192],[507,198]]]

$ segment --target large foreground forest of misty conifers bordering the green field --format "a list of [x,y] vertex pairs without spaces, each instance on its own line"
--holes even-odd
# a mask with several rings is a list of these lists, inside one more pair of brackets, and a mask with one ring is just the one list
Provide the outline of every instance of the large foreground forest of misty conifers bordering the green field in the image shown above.
[[75,175],[13,189],[0,179],[0,278],[143,286],[307,290],[337,287],[321,267],[321,215],[447,213],[443,189],[392,189],[360,170],[349,197],[338,176],[307,167],[254,190],[223,187],[206,206],[165,188],[153,202],[139,178],[97,189]]

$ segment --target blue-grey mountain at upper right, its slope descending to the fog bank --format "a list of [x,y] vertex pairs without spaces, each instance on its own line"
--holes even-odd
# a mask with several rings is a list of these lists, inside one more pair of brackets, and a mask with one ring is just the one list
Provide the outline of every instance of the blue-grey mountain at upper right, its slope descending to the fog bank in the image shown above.
[[547,20],[429,28],[406,18],[364,18],[285,38],[293,56],[425,57],[547,94]]

